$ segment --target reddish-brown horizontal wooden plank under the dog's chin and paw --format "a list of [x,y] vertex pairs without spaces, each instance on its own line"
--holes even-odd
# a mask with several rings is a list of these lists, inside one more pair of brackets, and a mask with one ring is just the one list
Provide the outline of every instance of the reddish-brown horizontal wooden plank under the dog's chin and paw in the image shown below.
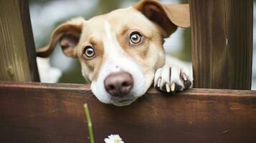
[[155,89],[128,107],[102,104],[82,84],[0,82],[0,142],[89,142],[87,103],[96,142],[255,142],[256,91]]

